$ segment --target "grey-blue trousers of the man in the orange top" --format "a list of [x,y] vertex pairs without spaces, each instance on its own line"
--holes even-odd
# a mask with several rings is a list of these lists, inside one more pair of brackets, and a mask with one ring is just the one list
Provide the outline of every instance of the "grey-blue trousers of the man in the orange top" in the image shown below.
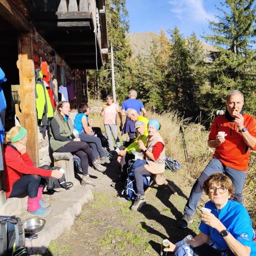
[[213,173],[224,173],[233,182],[235,187],[234,200],[238,203],[242,203],[242,193],[244,187],[244,181],[246,178],[246,171],[238,171],[228,166],[223,165],[219,159],[212,158],[210,163],[205,167],[200,177],[196,180],[193,188],[191,189],[188,202],[185,206],[184,213],[193,215],[196,211],[198,202],[203,194],[203,185],[205,180]]

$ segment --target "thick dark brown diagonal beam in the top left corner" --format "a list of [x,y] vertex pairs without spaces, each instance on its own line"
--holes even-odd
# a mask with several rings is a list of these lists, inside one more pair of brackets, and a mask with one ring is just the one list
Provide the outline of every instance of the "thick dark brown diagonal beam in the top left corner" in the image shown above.
[[33,27],[10,1],[0,0],[0,15],[19,31],[32,31]]

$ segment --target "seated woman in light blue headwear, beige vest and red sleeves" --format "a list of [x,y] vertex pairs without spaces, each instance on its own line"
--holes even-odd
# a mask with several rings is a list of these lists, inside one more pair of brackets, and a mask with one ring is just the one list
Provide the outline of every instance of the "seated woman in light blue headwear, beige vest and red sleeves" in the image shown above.
[[150,177],[154,174],[161,174],[165,170],[165,147],[164,141],[159,134],[160,124],[156,119],[148,122],[147,146],[143,141],[139,140],[138,144],[144,153],[146,159],[145,165],[134,169],[134,177],[136,180],[137,197],[131,210],[138,211],[146,204],[145,193],[143,189],[143,176]]

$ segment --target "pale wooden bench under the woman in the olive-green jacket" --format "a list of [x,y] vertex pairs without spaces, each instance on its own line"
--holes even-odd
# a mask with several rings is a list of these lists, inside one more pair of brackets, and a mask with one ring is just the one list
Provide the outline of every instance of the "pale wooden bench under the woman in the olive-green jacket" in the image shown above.
[[64,169],[66,181],[75,182],[75,173],[74,173],[74,162],[73,155],[71,153],[59,153],[54,152],[52,154],[54,159],[54,166],[61,167]]

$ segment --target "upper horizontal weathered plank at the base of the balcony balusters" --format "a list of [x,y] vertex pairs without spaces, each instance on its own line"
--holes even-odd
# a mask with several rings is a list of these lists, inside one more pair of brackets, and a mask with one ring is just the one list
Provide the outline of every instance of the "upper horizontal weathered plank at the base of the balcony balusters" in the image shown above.
[[91,12],[34,12],[33,20],[92,19]]

